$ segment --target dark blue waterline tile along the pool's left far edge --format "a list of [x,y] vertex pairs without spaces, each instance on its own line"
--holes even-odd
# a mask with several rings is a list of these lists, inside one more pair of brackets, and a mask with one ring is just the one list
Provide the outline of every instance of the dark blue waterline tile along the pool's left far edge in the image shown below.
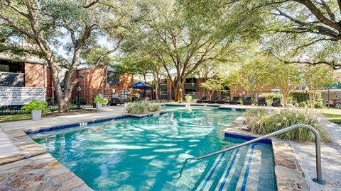
[[[165,114],[166,111],[164,112],[159,112],[160,115]],[[143,116],[136,116],[136,115],[122,115],[122,116],[118,116],[118,117],[109,117],[106,119],[102,119],[102,120],[92,120],[92,121],[88,121],[87,125],[90,124],[94,124],[97,122],[107,122],[107,121],[111,121],[111,120],[121,120],[124,118],[135,118],[135,119],[144,119],[147,117],[152,117],[153,114],[149,114],[149,115],[143,115]],[[40,132],[49,132],[49,131],[53,131],[53,130],[58,130],[58,129],[66,129],[66,128],[70,128],[70,127],[78,127],[80,126],[81,122],[77,122],[77,123],[73,123],[73,124],[68,124],[68,125],[58,125],[58,126],[53,126],[53,127],[46,127],[46,128],[42,128],[42,129],[36,129],[36,130],[28,130],[25,131],[26,134],[36,134],[36,133],[40,133]]]

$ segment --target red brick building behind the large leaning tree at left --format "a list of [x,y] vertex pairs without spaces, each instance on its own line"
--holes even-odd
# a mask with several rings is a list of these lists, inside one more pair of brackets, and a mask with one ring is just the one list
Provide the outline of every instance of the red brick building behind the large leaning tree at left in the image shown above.
[[[84,67],[77,69],[73,79],[84,74],[85,69]],[[76,84],[72,97],[77,96],[77,87],[80,87],[80,98],[89,104],[92,103],[92,97],[98,94],[111,97],[113,93],[120,96],[121,89],[126,89],[126,92],[133,91],[129,88],[133,82],[132,75],[119,76],[114,69],[95,68]],[[61,81],[62,88],[63,84]],[[32,99],[46,100],[48,97],[55,98],[55,91],[50,68],[44,60],[16,59],[13,61],[9,57],[0,55],[0,107],[23,105]]]

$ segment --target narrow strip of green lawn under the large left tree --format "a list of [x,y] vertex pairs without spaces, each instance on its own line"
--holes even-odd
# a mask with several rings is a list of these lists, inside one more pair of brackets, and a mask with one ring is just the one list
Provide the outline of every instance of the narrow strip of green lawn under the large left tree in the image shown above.
[[[63,115],[77,115],[82,113],[97,112],[96,110],[72,110],[70,112],[45,112],[41,117],[56,117]],[[14,122],[20,120],[31,120],[31,114],[0,115],[1,122]]]

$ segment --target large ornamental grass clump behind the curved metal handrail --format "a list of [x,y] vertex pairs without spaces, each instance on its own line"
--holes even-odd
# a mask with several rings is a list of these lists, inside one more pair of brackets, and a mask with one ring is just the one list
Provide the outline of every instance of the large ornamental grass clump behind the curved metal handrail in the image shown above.
[[[314,127],[320,133],[323,141],[328,141],[328,132],[318,126],[320,114],[307,110],[248,110],[245,113],[245,122],[249,130],[255,134],[269,134],[279,129],[296,124],[306,124]],[[309,129],[297,128],[278,134],[279,139],[295,141],[315,141],[315,135]]]

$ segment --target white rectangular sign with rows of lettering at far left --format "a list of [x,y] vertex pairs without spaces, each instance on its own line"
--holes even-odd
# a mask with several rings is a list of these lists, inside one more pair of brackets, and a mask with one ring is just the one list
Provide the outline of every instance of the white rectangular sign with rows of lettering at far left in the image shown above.
[[0,86],[0,106],[24,105],[30,100],[45,101],[45,88]]

